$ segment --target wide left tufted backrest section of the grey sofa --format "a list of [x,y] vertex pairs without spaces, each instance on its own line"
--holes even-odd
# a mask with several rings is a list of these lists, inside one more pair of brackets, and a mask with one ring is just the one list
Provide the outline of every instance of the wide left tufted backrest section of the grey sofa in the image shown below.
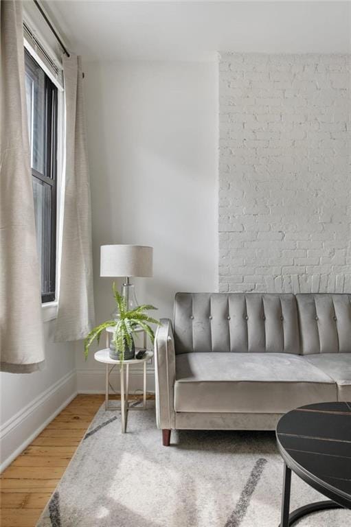
[[299,354],[293,294],[177,293],[176,353],[214,351]]

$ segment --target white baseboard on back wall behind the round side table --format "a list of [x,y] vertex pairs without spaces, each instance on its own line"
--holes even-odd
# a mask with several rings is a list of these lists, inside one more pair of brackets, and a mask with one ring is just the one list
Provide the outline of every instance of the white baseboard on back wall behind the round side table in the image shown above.
[[[117,393],[120,392],[120,372],[111,373],[110,382]],[[133,368],[129,372],[129,392],[139,392],[143,388],[143,371]],[[155,372],[148,369],[146,373],[146,389],[155,391]],[[105,393],[105,372],[102,369],[77,370],[78,393]],[[113,393],[111,391],[111,393]]]

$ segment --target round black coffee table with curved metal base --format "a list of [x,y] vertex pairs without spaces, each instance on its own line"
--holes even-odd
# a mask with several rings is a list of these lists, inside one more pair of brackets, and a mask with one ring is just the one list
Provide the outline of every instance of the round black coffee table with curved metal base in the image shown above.
[[[285,414],[276,430],[284,459],[280,527],[309,513],[351,508],[351,403],[319,403]],[[289,513],[291,471],[329,498]]]

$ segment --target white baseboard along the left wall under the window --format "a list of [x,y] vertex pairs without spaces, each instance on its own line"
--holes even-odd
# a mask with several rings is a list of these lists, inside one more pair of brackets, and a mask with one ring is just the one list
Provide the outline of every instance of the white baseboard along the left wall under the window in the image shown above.
[[22,408],[0,428],[2,472],[77,395],[76,371],[70,371]]

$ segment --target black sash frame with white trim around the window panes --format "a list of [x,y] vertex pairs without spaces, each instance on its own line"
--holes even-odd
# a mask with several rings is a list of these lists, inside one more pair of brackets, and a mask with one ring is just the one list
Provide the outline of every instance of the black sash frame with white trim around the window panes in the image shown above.
[[[32,52],[30,46],[25,42],[25,54],[30,56],[30,59],[36,62],[45,73],[44,99],[45,99],[45,173],[41,174],[38,170],[31,167],[32,178],[41,180],[45,185],[51,187],[51,215],[50,215],[50,254],[49,254],[49,282],[50,291],[41,292],[42,305],[49,305],[49,303],[56,302],[56,291],[58,285],[58,211],[59,211],[59,192],[58,185],[60,184],[60,167],[62,156],[60,149],[62,149],[62,139],[60,135],[63,132],[63,121],[60,118],[60,112],[63,105],[63,89],[53,82],[51,75],[48,75],[47,68],[43,67],[40,58],[35,51]],[[61,140],[60,140],[61,139]]]

